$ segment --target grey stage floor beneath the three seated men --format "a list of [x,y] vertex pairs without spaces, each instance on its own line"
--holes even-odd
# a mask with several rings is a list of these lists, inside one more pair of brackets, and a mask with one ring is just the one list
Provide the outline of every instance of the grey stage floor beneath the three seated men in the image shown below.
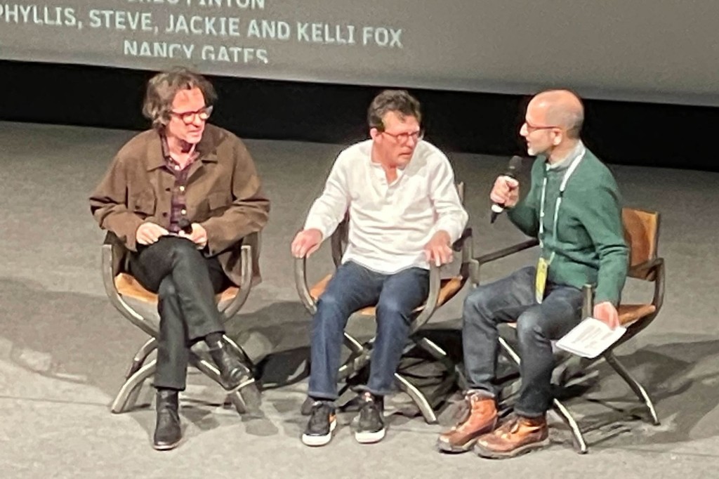
[[[331,444],[300,442],[299,409],[310,318],[298,301],[289,243],[342,145],[247,140],[267,196],[263,283],[232,325],[232,335],[265,357],[261,418],[221,406],[223,395],[198,374],[189,378],[181,447],[150,447],[155,414],[141,407],[114,415],[109,403],[145,340],[109,304],[100,277],[103,233],[87,197],[114,153],[134,132],[0,123],[0,477],[3,478],[664,478],[714,477],[719,467],[719,173],[611,166],[625,203],[661,212],[659,253],[667,262],[664,308],[651,327],[618,349],[649,389],[662,421],[651,426],[633,393],[604,375],[586,398],[569,401],[587,430],[590,452],[572,450],[553,421],[547,450],[491,462],[434,450],[440,426],[392,415],[380,444],[354,442],[349,422]],[[609,141],[609,140],[608,140]],[[490,226],[490,185],[506,158],[449,153],[467,183],[475,252],[522,235],[500,219]],[[527,168],[528,169],[528,168]],[[487,268],[491,280],[529,263],[528,253]],[[329,248],[311,261],[311,277],[331,270]],[[459,294],[436,327],[457,327]],[[628,296],[646,291],[629,286]],[[353,324],[369,332],[372,321]],[[606,373],[606,365],[598,365]],[[143,393],[145,403],[150,391]]]

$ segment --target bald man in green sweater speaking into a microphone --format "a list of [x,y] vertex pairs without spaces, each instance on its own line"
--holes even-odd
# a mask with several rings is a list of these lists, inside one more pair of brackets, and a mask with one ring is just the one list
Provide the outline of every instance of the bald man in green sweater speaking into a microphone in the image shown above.
[[[490,197],[511,222],[539,238],[535,266],[475,288],[464,301],[462,342],[470,415],[438,440],[439,450],[513,457],[549,444],[551,341],[581,318],[583,285],[595,285],[593,316],[618,326],[628,248],[620,195],[608,168],[580,140],[582,101],[566,90],[544,91],[527,106],[520,134],[536,155],[523,199],[518,181],[500,176]],[[522,186],[523,188],[523,186]],[[499,323],[516,321],[522,386],[514,415],[498,426],[495,369]]]

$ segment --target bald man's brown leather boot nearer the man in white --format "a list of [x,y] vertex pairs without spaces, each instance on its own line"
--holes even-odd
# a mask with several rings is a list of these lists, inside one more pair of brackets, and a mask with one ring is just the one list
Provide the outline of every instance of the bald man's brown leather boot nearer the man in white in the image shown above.
[[470,409],[467,418],[449,431],[439,434],[437,449],[442,452],[467,452],[475,445],[478,437],[497,426],[495,398],[470,393],[465,401]]

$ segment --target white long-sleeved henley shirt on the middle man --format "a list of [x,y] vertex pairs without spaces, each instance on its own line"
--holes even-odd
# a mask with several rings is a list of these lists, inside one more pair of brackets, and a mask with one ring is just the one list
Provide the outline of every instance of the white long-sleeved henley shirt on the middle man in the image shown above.
[[349,211],[349,260],[378,273],[429,269],[424,246],[440,230],[452,242],[467,224],[454,173],[446,155],[421,141],[398,177],[388,183],[385,170],[372,162],[372,140],[343,150],[335,160],[322,195],[313,203],[305,229],[326,239]]

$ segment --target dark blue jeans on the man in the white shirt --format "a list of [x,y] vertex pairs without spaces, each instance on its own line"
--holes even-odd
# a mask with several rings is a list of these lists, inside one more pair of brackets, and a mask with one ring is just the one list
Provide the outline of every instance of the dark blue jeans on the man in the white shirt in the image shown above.
[[329,281],[317,301],[312,320],[311,370],[308,395],[334,401],[337,373],[349,316],[365,306],[377,306],[377,337],[372,347],[367,390],[385,396],[406,345],[412,310],[429,292],[429,271],[408,268],[392,275],[377,273],[348,261]]

